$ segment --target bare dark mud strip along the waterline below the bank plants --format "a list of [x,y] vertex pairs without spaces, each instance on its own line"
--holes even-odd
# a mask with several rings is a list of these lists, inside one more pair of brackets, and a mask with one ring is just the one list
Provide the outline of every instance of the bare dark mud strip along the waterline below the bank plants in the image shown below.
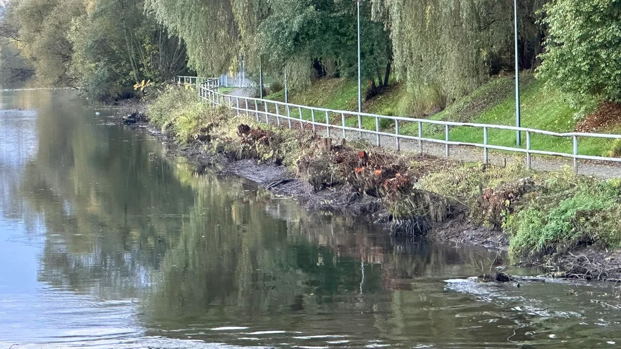
[[[152,135],[165,139],[171,157],[183,157],[196,166],[197,171],[214,170],[222,175],[235,175],[256,183],[258,188],[296,199],[307,210],[329,211],[363,217],[383,228],[392,228],[389,212],[381,199],[354,192],[349,185],[335,185],[316,191],[306,179],[289,173],[284,166],[258,164],[254,159],[227,161],[221,154],[202,151],[202,144],[179,148],[175,140],[161,132]],[[466,216],[446,219],[432,226],[426,236],[398,236],[401,239],[429,239],[461,245],[475,245],[506,251],[509,237],[501,229],[473,224]],[[584,247],[563,255],[549,255],[538,260],[519,261],[516,265],[540,267],[550,277],[582,280],[621,280],[621,252]]]

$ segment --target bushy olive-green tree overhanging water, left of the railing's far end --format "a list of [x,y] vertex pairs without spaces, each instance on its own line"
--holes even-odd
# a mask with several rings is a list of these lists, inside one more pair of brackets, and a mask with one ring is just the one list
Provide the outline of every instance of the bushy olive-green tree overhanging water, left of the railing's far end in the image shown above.
[[73,20],[72,68],[92,97],[112,99],[137,82],[170,81],[186,69],[183,41],[144,6],[143,0],[94,0]]

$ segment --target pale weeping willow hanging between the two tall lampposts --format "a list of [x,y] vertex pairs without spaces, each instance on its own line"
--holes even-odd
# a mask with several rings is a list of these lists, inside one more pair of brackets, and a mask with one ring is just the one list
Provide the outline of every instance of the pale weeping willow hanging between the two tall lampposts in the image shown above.
[[[460,97],[489,76],[492,64],[514,54],[513,0],[373,2],[391,32],[397,71],[410,86],[435,84],[450,99]],[[533,37],[540,2],[520,1],[523,47],[540,40]]]

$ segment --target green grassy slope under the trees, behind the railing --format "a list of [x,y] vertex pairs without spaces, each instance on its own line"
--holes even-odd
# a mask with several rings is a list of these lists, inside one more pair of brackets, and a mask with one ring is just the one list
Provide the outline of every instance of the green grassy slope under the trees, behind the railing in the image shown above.
[[[564,97],[556,91],[544,89],[543,82],[533,78],[532,73],[523,73],[521,76],[521,111],[522,126],[540,130],[569,132],[576,125],[572,108]],[[496,125],[515,125],[515,94],[514,78],[511,76],[494,77],[487,84],[479,87],[472,94],[457,100],[448,108],[430,117],[433,120],[451,120],[473,123],[489,123]],[[407,116],[407,91],[403,85],[396,84],[370,102],[363,105],[363,111],[381,115]],[[301,94],[291,94],[289,98],[294,104],[327,107],[338,110],[356,110],[357,85],[355,81],[345,79],[327,79],[315,82],[311,89]],[[282,92],[268,96],[268,99],[284,100]],[[293,113],[293,112],[292,112]],[[297,112],[294,116],[299,115]],[[310,120],[311,113],[303,111],[302,117]],[[325,115],[315,115],[317,120],[325,121]],[[340,123],[338,115],[330,116],[331,123]],[[347,126],[357,126],[356,117],[347,116]],[[383,121],[380,127],[392,130],[394,124]],[[374,118],[365,118],[363,127],[375,129]],[[401,131],[407,135],[418,135],[417,123],[402,124]],[[621,132],[621,127],[607,130],[611,133]],[[443,138],[442,126],[424,125],[423,136],[428,138]],[[450,139],[469,143],[483,143],[483,132],[473,128],[457,127],[450,131]],[[522,134],[522,148],[525,148],[526,136]],[[552,136],[532,136],[532,149],[572,152],[571,139]],[[489,143],[499,146],[514,146],[514,131],[489,130]],[[579,139],[580,154],[602,155],[610,147],[608,141],[601,139]]]

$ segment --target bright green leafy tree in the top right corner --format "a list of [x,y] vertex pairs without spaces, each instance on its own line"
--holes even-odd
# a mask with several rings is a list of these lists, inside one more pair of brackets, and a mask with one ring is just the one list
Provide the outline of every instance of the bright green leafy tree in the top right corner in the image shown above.
[[549,35],[537,76],[576,104],[621,100],[621,1],[555,0],[545,12]]

